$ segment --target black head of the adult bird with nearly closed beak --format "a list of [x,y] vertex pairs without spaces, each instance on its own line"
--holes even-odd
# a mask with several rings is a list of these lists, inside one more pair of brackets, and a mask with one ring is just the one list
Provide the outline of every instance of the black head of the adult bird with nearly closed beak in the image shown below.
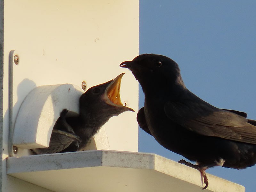
[[[154,86],[185,86],[178,64],[172,59],[156,54],[142,54],[131,61],[124,61],[120,67],[128,68],[139,81],[143,91],[152,90]],[[151,87],[149,88],[148,85]]]

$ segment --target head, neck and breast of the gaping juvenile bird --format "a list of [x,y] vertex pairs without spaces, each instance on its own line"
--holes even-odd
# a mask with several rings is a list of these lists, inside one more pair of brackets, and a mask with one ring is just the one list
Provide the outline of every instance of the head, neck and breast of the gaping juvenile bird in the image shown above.
[[[79,100],[79,117],[67,117],[68,124],[82,140],[78,151],[84,150],[92,136],[100,130],[110,117],[118,116],[132,108],[123,106],[120,98],[121,79],[124,73],[104,84],[88,89]],[[73,151],[69,148],[67,151]]]

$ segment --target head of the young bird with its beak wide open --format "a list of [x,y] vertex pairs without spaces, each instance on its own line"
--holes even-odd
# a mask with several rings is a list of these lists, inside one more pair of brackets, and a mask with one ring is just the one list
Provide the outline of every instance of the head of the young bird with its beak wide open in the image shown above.
[[124,73],[106,83],[93,86],[82,94],[79,101],[80,115],[108,120],[124,111],[134,111],[121,102],[120,87],[123,75]]

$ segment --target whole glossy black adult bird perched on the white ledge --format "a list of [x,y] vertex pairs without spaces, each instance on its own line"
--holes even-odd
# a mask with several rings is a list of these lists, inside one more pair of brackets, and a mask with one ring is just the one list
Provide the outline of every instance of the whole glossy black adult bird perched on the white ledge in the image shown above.
[[142,54],[120,67],[128,68],[145,94],[137,114],[140,127],[159,144],[196,165],[205,188],[205,170],[213,166],[244,169],[256,163],[256,121],[240,111],[216,108],[190,92],[180,68],[163,55]]

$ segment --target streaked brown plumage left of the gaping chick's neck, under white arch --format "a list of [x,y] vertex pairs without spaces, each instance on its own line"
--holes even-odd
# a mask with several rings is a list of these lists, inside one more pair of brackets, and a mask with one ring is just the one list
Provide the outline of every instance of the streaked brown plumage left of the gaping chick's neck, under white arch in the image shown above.
[[32,153],[35,155],[39,154],[50,154],[58,153],[66,149],[71,143],[74,148],[78,148],[82,140],[73,131],[72,127],[66,121],[66,115],[68,113],[67,109],[63,109],[60,113],[60,117],[57,119],[56,123],[52,129],[52,135],[50,138],[50,144],[48,148],[36,148],[31,149]]

